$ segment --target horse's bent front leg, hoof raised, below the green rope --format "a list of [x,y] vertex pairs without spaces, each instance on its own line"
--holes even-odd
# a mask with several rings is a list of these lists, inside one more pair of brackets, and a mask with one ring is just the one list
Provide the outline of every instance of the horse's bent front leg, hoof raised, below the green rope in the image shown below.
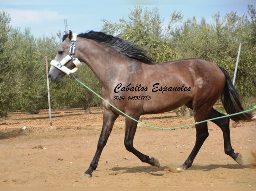
[[[139,119],[139,116],[135,119]],[[137,156],[142,162],[146,162],[148,164],[151,164],[153,166],[157,166],[159,167],[159,161],[157,158],[151,157],[149,158],[149,156],[142,154],[141,152],[139,152],[138,150],[136,150],[133,147],[133,139],[134,139],[134,135],[136,132],[136,128],[137,128],[137,122],[126,117],[125,119],[125,139],[124,139],[124,145],[125,148],[132,152],[135,156]]]

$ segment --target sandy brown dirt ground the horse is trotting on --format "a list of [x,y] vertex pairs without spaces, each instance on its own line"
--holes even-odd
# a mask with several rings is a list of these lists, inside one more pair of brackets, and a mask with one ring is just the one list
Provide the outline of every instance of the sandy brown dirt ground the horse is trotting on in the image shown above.
[[[93,177],[80,179],[96,151],[102,110],[95,109],[92,114],[75,112],[59,111],[59,116],[53,112],[53,126],[46,124],[48,119],[43,114],[14,113],[1,119],[0,186],[256,186],[256,122],[230,124],[231,143],[235,152],[242,154],[243,165],[224,153],[222,131],[208,122],[210,135],[193,165],[185,172],[174,173],[170,169],[179,167],[195,144],[195,126],[175,130],[144,125],[137,128],[134,146],[158,158],[157,168],[142,163],[125,149],[122,116],[113,127]],[[39,125],[42,120],[46,120],[45,126]],[[176,127],[194,119],[168,112],[143,115],[142,122]],[[23,126],[27,128],[23,130]]]

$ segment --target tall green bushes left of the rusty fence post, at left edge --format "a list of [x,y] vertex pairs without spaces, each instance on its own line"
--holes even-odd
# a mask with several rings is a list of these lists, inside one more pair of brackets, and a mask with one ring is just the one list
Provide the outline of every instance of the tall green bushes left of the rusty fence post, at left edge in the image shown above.
[[[0,23],[7,25],[9,19],[4,18],[3,13],[0,15]],[[7,26],[1,30],[2,37],[3,34],[7,37],[1,38],[0,117],[15,110],[37,113],[47,108],[45,55],[51,51],[49,55],[54,58],[55,38],[35,39],[29,28],[23,33]]]

